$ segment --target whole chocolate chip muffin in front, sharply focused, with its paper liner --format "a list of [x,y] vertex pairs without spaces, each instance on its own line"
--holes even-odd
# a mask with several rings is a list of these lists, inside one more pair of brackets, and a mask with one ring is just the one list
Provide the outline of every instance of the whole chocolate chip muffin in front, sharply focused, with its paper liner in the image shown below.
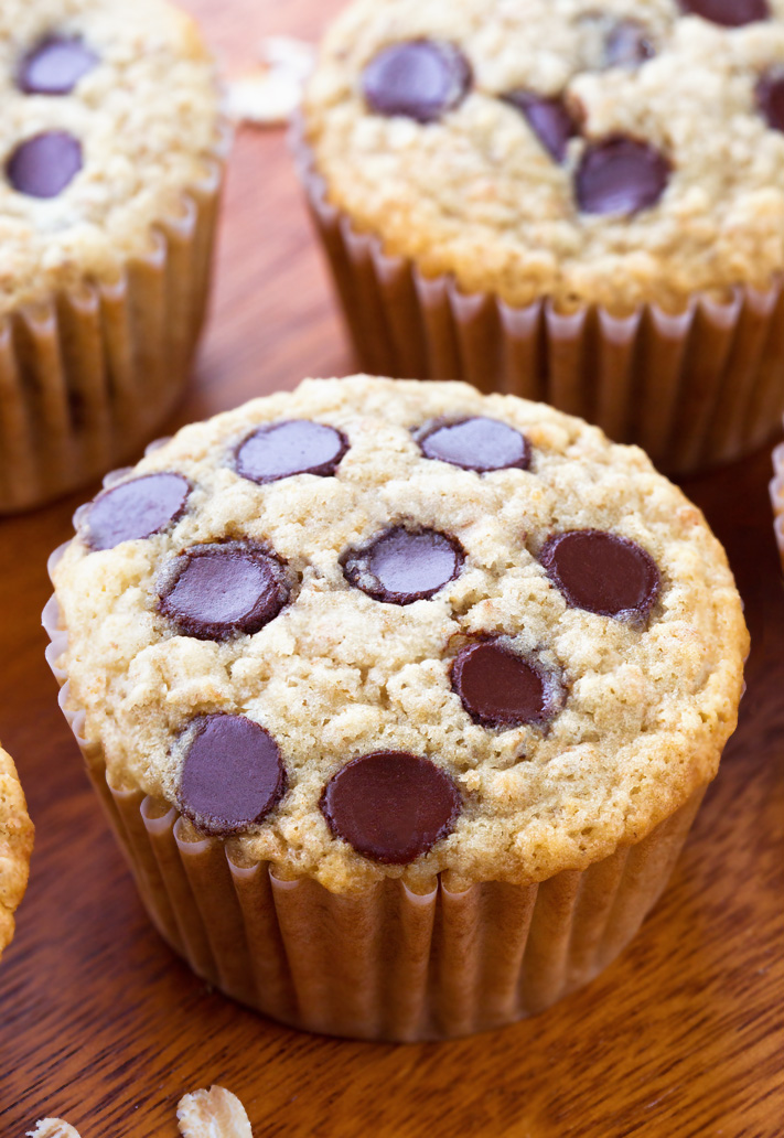
[[627,943],[746,632],[637,448],[464,384],[306,380],[79,511],[44,613],[152,920],[275,1019],[448,1038]]

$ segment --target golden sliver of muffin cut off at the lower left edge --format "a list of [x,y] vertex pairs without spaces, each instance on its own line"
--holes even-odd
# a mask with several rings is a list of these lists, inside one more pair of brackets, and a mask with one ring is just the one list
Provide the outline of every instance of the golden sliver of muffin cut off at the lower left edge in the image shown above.
[[14,939],[14,914],[25,896],[33,823],[14,761],[0,747],[0,956]]

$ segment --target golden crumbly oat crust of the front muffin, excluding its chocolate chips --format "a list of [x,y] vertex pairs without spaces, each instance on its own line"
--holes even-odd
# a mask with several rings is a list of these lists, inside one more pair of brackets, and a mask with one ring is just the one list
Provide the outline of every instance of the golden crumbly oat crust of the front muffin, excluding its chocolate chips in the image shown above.
[[[423,423],[477,414],[525,432],[530,470],[477,475],[424,457]],[[335,477],[238,476],[250,430],[298,418],[347,437]],[[170,531],[92,553],[76,537],[55,568],[60,666],[71,710],[85,711],[86,752],[97,744],[113,785],[176,803],[179,736],[196,716],[239,712],[272,733],[289,790],[229,840],[236,857],[335,891],[389,875],[422,889],[440,872],[530,882],[639,841],[716,774],[748,651],[741,601],[700,511],[638,448],[513,396],[360,376],[306,380],[187,427],[134,475],[154,471],[193,486]],[[465,552],[430,600],[383,604],[346,580],[345,550],[396,523],[447,531]],[[573,528],[611,530],[654,559],[661,592],[642,627],[569,608],[553,587],[538,553]],[[178,636],[157,609],[162,566],[225,537],[284,559],[292,601],[255,635]],[[488,729],[468,715],[449,667],[486,635],[561,673],[566,704],[548,725]],[[431,758],[464,799],[452,835],[405,867],[360,857],[319,809],[337,770],[380,749]]]

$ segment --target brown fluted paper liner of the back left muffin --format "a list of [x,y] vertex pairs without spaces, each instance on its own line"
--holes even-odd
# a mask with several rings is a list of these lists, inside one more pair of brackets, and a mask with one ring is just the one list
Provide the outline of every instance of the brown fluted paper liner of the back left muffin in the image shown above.
[[204,324],[228,126],[205,176],[116,283],[86,277],[0,320],[0,513],[135,454],[170,414]]

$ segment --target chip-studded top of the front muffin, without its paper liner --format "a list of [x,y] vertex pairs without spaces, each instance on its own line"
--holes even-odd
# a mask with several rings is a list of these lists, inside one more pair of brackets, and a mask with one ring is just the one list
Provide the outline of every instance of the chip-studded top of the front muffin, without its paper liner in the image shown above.
[[113,785],[283,875],[579,867],[704,785],[735,726],[746,632],[700,511],[540,404],[306,380],[184,428],[75,522],[80,731]]

